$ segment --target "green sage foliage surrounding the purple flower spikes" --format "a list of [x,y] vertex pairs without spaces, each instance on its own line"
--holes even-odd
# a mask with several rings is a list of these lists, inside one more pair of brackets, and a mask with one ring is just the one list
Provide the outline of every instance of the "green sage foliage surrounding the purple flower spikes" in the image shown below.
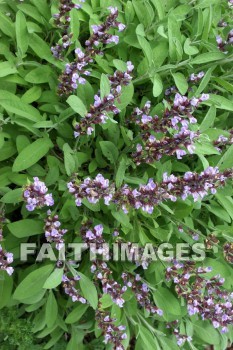
[[[7,218],[4,247],[14,254],[15,267],[12,277],[0,271],[2,349],[105,348],[94,321],[97,292],[88,261],[84,259],[78,270],[86,276],[81,289],[91,304],[89,307],[72,303],[62,293],[62,269],[47,262],[35,263],[32,257],[25,263],[19,261],[20,243],[45,241],[46,210],[29,214],[22,198],[22,188],[33,176],[45,181],[53,193],[56,210],[68,229],[67,242],[81,241],[79,230],[84,217],[103,223],[109,240],[113,228],[118,228],[126,241],[141,244],[190,242],[188,235],[177,230],[180,222],[187,228],[196,228],[203,240],[214,232],[220,241],[219,249],[207,251],[204,266],[212,266],[215,273],[225,277],[224,287],[232,290],[232,268],[221,249],[233,237],[231,184],[203,202],[186,200],[158,206],[151,216],[133,211],[125,215],[114,207],[106,209],[102,204],[87,202],[80,209],[66,188],[74,173],[84,178],[102,172],[119,187],[122,183],[145,184],[150,177],[161,181],[165,171],[182,175],[188,170],[200,172],[208,165],[219,165],[222,170],[232,167],[233,146],[223,154],[212,146],[214,139],[229,135],[228,130],[233,127],[232,51],[219,51],[215,39],[219,34],[226,37],[231,29],[219,28],[218,23],[224,19],[232,24],[232,10],[225,0],[86,1],[71,16],[75,42],[66,55],[67,61],[74,57],[72,49],[82,46],[88,38],[90,25],[102,21],[108,6],[118,7],[119,20],[127,28],[120,34],[118,45],[110,45],[103,57],[96,57],[88,82],[79,85],[67,100],[57,94],[64,62],[56,60],[50,50],[60,38],[52,19],[58,2],[0,2],[0,193],[1,208]],[[73,123],[82,115],[78,101],[88,110],[94,94],[99,88],[104,89],[106,75],[116,68],[122,69],[129,60],[135,66],[134,78],[119,103],[117,123],[97,126],[94,137],[82,137],[77,142]],[[161,113],[165,89],[176,85],[181,94],[186,94],[187,78],[201,70],[205,76],[192,94],[210,93],[210,99],[196,113],[202,136],[195,154],[184,157],[182,162],[164,157],[152,165],[136,167],[129,149],[137,130],[126,122],[133,108],[151,100],[154,114]],[[133,269],[129,263],[112,264],[111,268],[115,278],[122,271]],[[127,325],[131,336],[124,341],[125,348],[132,339],[132,349],[177,349],[165,323],[174,319],[179,319],[183,332],[193,337],[185,349],[213,345],[220,350],[232,342],[232,330],[221,335],[208,322],[190,319],[181,300],[164,280],[160,261],[151,263],[143,274],[151,286],[156,286],[153,294],[164,311],[162,318],[148,318],[130,295],[124,309],[107,298],[103,302],[104,308]]]

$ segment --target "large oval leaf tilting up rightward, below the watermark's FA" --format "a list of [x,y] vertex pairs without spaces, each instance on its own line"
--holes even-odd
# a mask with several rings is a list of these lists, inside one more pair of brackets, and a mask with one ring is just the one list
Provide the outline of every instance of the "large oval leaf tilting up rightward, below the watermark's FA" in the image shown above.
[[16,288],[13,299],[23,302],[24,299],[31,298],[40,293],[52,270],[53,265],[49,264],[30,272]]

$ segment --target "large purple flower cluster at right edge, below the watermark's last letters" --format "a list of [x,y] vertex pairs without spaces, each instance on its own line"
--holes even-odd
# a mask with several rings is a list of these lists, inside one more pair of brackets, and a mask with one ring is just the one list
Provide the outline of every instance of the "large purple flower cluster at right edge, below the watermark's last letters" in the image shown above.
[[176,284],[177,294],[187,301],[190,316],[198,314],[202,320],[210,320],[214,328],[226,333],[233,321],[233,293],[224,290],[225,280],[220,275],[202,277],[210,271],[211,267],[196,267],[192,261],[185,264],[175,261],[167,268],[166,279]]

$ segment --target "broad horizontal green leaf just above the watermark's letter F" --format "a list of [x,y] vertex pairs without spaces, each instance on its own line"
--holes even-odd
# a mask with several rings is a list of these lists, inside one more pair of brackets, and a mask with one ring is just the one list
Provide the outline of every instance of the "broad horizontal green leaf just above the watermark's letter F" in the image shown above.
[[18,238],[31,237],[44,232],[43,221],[33,219],[15,221],[8,224],[7,227],[10,230],[10,232]]

